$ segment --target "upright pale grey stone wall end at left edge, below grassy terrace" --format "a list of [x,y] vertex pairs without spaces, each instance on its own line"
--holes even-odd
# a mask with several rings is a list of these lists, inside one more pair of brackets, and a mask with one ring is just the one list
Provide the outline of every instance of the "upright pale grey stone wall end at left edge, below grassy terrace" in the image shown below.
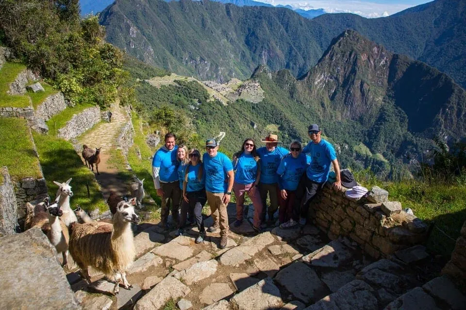
[[18,231],[15,189],[6,167],[0,167],[0,237]]

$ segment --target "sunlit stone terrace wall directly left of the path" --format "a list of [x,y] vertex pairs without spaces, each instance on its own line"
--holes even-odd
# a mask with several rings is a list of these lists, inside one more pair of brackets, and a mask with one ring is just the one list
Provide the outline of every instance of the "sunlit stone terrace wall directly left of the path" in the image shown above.
[[76,138],[95,124],[100,122],[100,108],[88,108],[79,114],[73,115],[65,127],[58,129],[58,137],[65,140]]

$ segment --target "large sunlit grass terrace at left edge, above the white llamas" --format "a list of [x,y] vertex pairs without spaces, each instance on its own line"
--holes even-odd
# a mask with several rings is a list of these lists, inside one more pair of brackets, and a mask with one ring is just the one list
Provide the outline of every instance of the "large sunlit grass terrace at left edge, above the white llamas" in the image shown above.
[[0,163],[8,167],[14,181],[42,177],[26,120],[1,118],[0,137]]

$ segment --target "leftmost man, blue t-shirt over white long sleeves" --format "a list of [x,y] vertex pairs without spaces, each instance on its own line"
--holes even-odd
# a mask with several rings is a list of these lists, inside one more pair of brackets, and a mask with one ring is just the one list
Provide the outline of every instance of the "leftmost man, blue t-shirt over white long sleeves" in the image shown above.
[[176,151],[178,147],[175,145],[176,136],[173,133],[165,135],[165,145],[155,152],[152,159],[152,176],[154,186],[157,190],[157,195],[162,199],[162,208],[160,211],[161,223],[165,230],[168,230],[168,214],[171,214],[173,222],[178,226],[180,199],[182,191],[180,190],[178,180],[178,165],[176,159]]

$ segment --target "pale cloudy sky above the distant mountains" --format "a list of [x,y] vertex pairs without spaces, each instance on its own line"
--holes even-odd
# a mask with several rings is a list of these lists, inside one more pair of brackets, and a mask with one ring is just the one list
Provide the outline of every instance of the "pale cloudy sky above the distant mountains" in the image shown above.
[[364,17],[389,16],[426,0],[258,0],[273,5],[291,5],[303,10],[324,9],[327,13],[354,13]]

